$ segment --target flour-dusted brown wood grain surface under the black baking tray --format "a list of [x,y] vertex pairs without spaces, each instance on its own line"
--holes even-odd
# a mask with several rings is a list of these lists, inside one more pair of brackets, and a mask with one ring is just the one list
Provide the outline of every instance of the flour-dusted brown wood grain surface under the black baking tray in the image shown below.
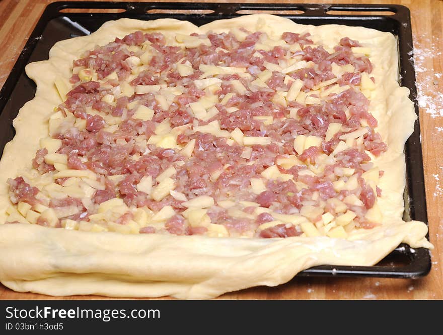
[[[214,2],[214,1],[212,1]],[[224,1],[236,2],[236,1]],[[239,1],[237,1],[239,2]],[[249,1],[253,3],[254,1]],[[263,3],[277,1],[262,0]],[[289,3],[288,1],[280,1]],[[0,0],[0,87],[3,86],[48,0]],[[292,3],[292,2],[291,2]],[[307,3],[321,3],[309,0]],[[443,2],[438,0],[331,1],[328,3],[385,3],[411,10],[417,85],[421,92],[422,134],[432,269],[418,280],[382,278],[296,278],[278,287],[255,287],[227,293],[219,299],[443,299]],[[434,74],[437,73],[437,76]],[[440,112],[441,110],[441,112]],[[441,115],[440,115],[441,113]],[[441,183],[441,184],[440,184]],[[1,255],[0,255],[1,257]],[[167,297],[168,298],[168,297]],[[40,294],[17,293],[0,284],[0,299],[54,299]],[[108,299],[69,296],[55,299]]]

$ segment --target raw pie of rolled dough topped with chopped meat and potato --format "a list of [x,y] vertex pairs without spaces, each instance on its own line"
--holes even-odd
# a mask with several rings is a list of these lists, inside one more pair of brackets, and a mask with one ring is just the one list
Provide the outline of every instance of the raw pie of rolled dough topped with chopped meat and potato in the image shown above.
[[49,56],[0,162],[6,286],[210,298],[431,248],[402,220],[416,115],[392,34],[121,19]]

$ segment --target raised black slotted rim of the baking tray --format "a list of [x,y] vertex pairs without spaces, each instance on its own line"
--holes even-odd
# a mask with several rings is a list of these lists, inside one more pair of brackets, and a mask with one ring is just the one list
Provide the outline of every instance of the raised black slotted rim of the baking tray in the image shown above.
[[[414,102],[415,113],[418,117],[418,104],[416,101],[417,88],[415,85],[415,70],[410,60],[410,57],[405,55],[411,55],[413,53],[413,40],[410,21],[410,11],[403,5],[377,5],[377,4],[256,4],[256,3],[139,3],[139,2],[69,2],[61,1],[54,2],[46,6],[41,17],[38,19],[37,24],[32,31],[27,43],[25,44],[22,52],[20,53],[13,69],[11,70],[8,78],[6,79],[2,89],[0,90],[0,114],[5,109],[12,92],[14,91],[18,79],[21,74],[24,73],[24,68],[28,63],[35,47],[41,38],[43,31],[47,23],[57,17],[82,17],[89,15],[92,17],[102,17],[108,20],[134,17],[136,15],[144,15],[146,19],[155,19],[158,16],[167,16],[167,14],[147,14],[148,9],[185,9],[198,10],[198,9],[211,9],[214,12],[206,16],[218,16],[218,19],[229,17],[243,16],[243,14],[236,13],[239,10],[300,10],[304,11],[301,14],[288,14],[279,15],[287,18],[310,18],[310,19],[327,19],[329,21],[334,20],[379,20],[380,18],[388,18],[395,20],[399,23],[398,30],[398,45],[399,45],[399,73],[401,75],[401,86],[405,86],[410,90],[409,98]],[[120,13],[63,13],[60,12],[63,9],[124,9],[124,12]],[[330,15],[326,14],[327,11],[358,11],[358,12],[374,12],[374,11],[390,11],[394,12],[394,15]],[[192,18],[201,14],[186,14],[182,17]],[[174,17],[175,15],[169,15]],[[137,18],[139,19],[139,18]],[[333,22],[331,22],[333,23]],[[341,23],[345,24],[345,23]],[[375,29],[375,28],[373,28]],[[407,43],[410,41],[410,43]],[[407,75],[406,75],[407,74]],[[412,219],[427,222],[427,209],[426,209],[426,197],[424,188],[424,169],[422,162],[422,149],[420,143],[420,125],[419,119],[414,125],[414,132],[407,140],[405,145],[406,156],[406,188],[405,188],[405,207],[409,207],[409,212]],[[3,151],[3,148],[2,148]],[[408,160],[413,157],[416,165],[408,164]],[[414,174],[418,176],[419,180],[414,178],[408,178],[408,174]],[[406,198],[406,195],[408,198]],[[416,198],[422,201],[416,201]],[[414,201],[415,200],[415,201]],[[418,206],[417,206],[418,205]],[[406,209],[405,209],[406,210]],[[429,233],[426,236],[429,238]],[[396,267],[394,270],[387,270],[386,266],[332,266],[322,265],[306,269],[298,276],[336,276],[336,277],[387,277],[387,278],[408,278],[415,279],[427,275],[431,268],[430,251],[424,248],[413,249],[406,244],[401,244],[389,255],[402,255],[409,259],[410,263],[404,266]],[[389,256],[388,255],[388,256]]]

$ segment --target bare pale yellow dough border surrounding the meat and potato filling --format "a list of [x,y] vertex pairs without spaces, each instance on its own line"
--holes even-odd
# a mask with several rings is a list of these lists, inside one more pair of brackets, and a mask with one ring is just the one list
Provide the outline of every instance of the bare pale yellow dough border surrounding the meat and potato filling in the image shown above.
[[371,47],[372,75],[378,83],[370,111],[388,151],[375,160],[385,171],[379,205],[384,224],[357,230],[348,240],[328,237],[286,239],[207,238],[202,236],[121,235],[49,229],[29,224],[0,225],[0,281],[20,292],[49,295],[100,294],[115,297],[212,298],[257,285],[275,286],[312,266],[376,264],[401,242],[414,248],[432,248],[423,222],[404,222],[406,139],[416,121],[409,90],[398,84],[397,41],[390,33],[338,25],[305,26],[271,15],[243,16],[196,27],[173,19],[105,23],[90,36],[60,41],[49,60],[31,63],[26,73],[37,83],[35,98],[14,120],[16,136],[0,161],[0,224],[10,205],[6,180],[29,168],[38,139],[48,134],[48,117],[61,100],[54,78],[70,76],[72,61],[82,52],[104,45],[133,31],[159,31],[174,42],[174,35],[222,32],[232,27],[283,32],[310,32],[315,43],[333,47],[340,38]]

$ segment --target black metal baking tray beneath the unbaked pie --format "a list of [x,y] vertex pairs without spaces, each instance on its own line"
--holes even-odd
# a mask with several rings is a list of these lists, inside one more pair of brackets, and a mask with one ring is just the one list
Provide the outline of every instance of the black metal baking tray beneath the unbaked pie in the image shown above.
[[[112,10],[113,13],[106,13]],[[61,12],[62,11],[62,12]],[[252,11],[252,12],[251,12]],[[120,18],[155,20],[175,18],[197,26],[241,16],[242,13],[278,14],[300,24],[343,24],[374,28],[391,32],[398,38],[399,82],[411,91],[416,102],[415,72],[411,61],[412,33],[409,9],[397,5],[316,5],[316,4],[220,4],[220,3],[115,3],[115,2],[56,2],[46,7],[40,20],[20,54],[4,87],[0,91],[0,155],[7,142],[14,137],[12,121],[26,101],[34,97],[36,86],[25,74],[25,65],[46,60],[55,42],[90,34],[104,22]],[[330,11],[340,11],[340,15]],[[240,12],[240,13],[239,13]],[[328,13],[330,12],[330,13]],[[343,12],[346,12],[343,15]],[[354,13],[352,13],[354,12]],[[371,13],[355,13],[371,12]],[[385,15],[391,12],[393,15]],[[358,14],[358,15],[357,15]],[[406,153],[406,220],[427,222],[420,143],[420,127],[405,145]],[[412,249],[402,244],[375,266],[317,266],[298,276],[365,276],[418,278],[429,273],[430,253],[427,249]]]

